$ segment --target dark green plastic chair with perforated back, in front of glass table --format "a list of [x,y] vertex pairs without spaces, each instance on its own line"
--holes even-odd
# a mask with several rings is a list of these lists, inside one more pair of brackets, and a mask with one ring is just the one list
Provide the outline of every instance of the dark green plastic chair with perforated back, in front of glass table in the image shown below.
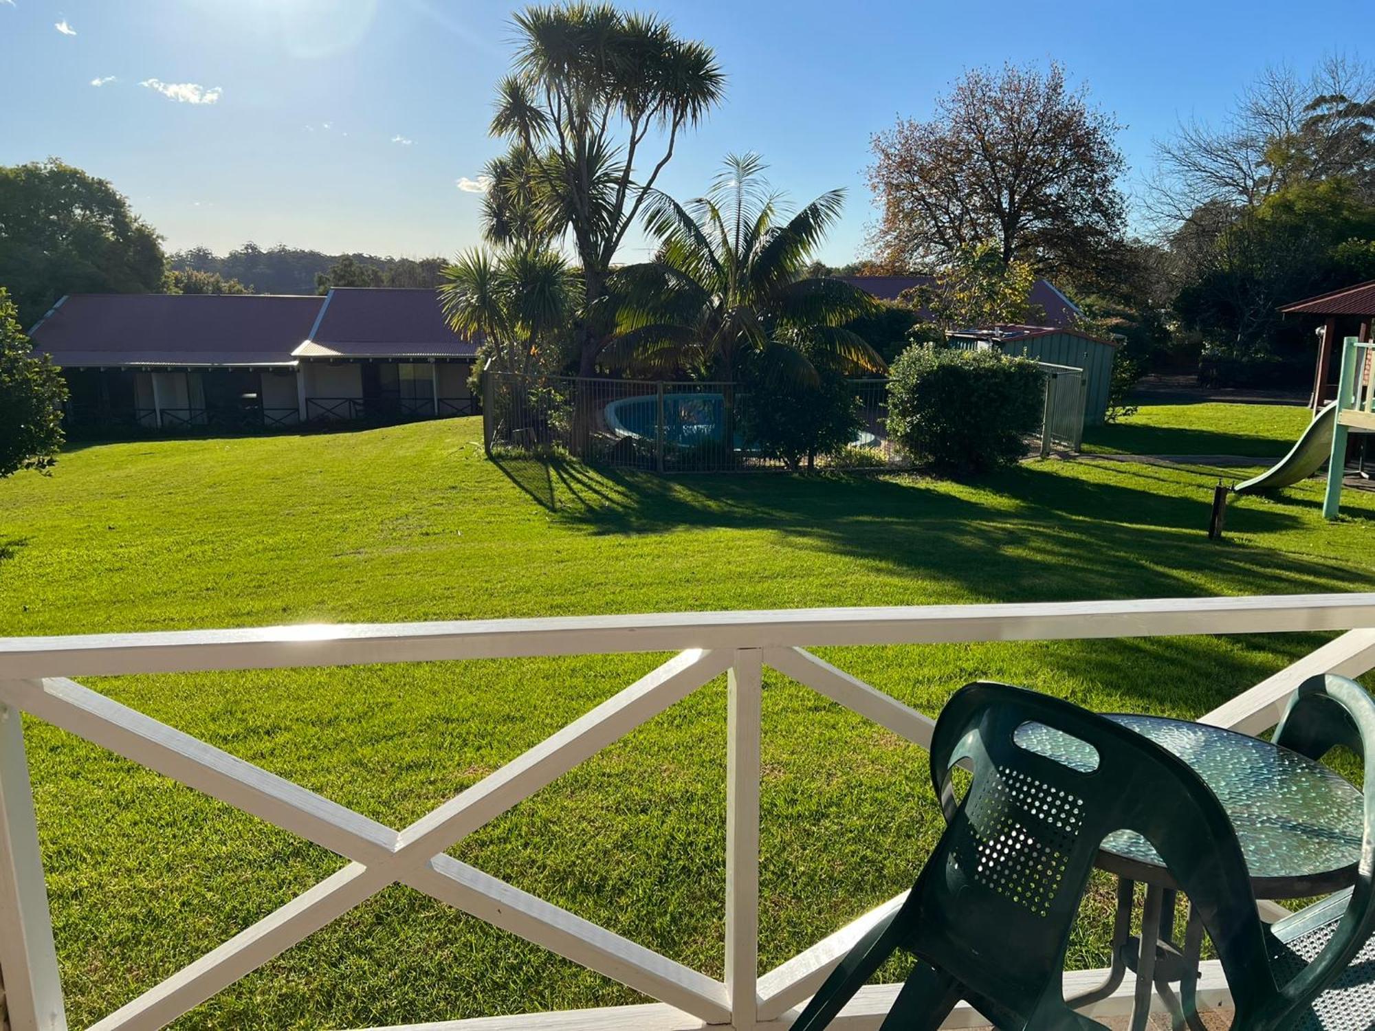
[[[1023,749],[1013,733],[1027,722],[1090,745],[1097,766],[1072,770]],[[974,774],[962,800],[956,764]],[[972,683],[936,722],[931,779],[945,834],[906,902],[851,949],[793,1031],[825,1028],[898,949],[917,962],[883,1031],[938,1028],[961,998],[1002,1030],[1103,1028],[1064,1002],[1062,972],[1099,843],[1122,829],[1145,837],[1189,896],[1232,986],[1233,1027],[1291,1027],[1305,993],[1326,984],[1314,966],[1277,984],[1275,940],[1221,804],[1182,760],[1132,730],[1044,694]]]

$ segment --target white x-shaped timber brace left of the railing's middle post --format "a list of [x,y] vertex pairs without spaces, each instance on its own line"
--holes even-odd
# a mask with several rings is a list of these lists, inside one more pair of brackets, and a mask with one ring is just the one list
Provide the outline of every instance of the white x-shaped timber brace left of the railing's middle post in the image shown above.
[[683,652],[557,734],[397,832],[235,759],[67,679],[0,682],[0,701],[190,788],[300,834],[351,862],[219,949],[96,1023],[155,1031],[362,905],[406,884],[707,1023],[730,1023],[726,986],[444,850],[681,701],[730,665],[730,652]]

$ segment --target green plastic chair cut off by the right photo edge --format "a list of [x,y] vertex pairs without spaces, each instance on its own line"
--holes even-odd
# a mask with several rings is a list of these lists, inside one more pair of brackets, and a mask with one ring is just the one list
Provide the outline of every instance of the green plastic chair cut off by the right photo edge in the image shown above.
[[1283,980],[1306,979],[1297,1031],[1375,1027],[1375,701],[1345,676],[1312,676],[1290,698],[1275,744],[1309,759],[1336,746],[1365,759],[1365,840],[1356,885],[1276,922],[1273,964]]

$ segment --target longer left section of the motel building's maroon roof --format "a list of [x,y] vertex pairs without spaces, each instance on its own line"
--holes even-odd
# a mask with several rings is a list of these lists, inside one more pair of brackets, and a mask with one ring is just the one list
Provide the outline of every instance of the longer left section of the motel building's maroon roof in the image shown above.
[[29,334],[54,364],[293,364],[320,297],[69,294]]

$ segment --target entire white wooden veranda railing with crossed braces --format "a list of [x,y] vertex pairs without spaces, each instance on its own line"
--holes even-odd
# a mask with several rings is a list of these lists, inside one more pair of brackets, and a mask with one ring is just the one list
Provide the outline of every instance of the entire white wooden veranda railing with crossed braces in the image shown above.
[[[0,973],[15,1031],[66,1028],[21,712],[28,712],[349,861],[338,873],[110,1013],[96,1031],[160,1028],[390,884],[407,884],[645,995],[642,1006],[455,1021],[450,1031],[781,1028],[850,944],[901,898],[758,973],[760,682],[764,665],[923,748],[932,720],[807,647],[1348,631],[1203,716],[1257,733],[1314,672],[1375,668],[1375,594],[597,616],[0,639]],[[183,734],[70,676],[455,658],[675,652],[557,734],[400,830]],[[446,855],[600,749],[722,672],[729,676],[726,968],[716,980]],[[957,685],[952,685],[956,687]],[[1066,975],[1068,990],[1101,972]],[[865,988],[833,1024],[876,1028],[895,986]],[[1216,965],[1204,1005],[1225,1005]],[[1090,1010],[1130,1010],[1130,987]],[[957,1009],[946,1027],[983,1021]]]

